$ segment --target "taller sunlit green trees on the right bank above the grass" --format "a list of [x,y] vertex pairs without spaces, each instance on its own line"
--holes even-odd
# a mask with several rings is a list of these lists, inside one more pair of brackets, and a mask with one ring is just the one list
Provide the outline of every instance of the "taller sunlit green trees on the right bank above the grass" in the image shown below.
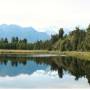
[[63,29],[59,30],[59,39],[55,41],[53,49],[60,51],[90,51],[90,25],[86,30],[76,27],[68,35],[62,35],[61,31],[63,32]]

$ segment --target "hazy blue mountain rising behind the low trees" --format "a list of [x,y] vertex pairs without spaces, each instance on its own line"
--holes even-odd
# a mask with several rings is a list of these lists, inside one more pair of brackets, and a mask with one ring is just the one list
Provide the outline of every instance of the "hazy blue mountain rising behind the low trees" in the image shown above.
[[0,25],[0,38],[18,37],[20,39],[26,38],[28,42],[36,42],[37,40],[47,40],[50,36],[45,32],[38,32],[32,27],[20,27],[17,25]]

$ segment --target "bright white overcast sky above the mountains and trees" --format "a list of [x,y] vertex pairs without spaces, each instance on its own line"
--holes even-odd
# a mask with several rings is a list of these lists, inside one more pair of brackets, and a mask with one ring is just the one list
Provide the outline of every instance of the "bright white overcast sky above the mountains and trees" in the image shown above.
[[90,0],[0,0],[0,24],[54,31],[89,23]]

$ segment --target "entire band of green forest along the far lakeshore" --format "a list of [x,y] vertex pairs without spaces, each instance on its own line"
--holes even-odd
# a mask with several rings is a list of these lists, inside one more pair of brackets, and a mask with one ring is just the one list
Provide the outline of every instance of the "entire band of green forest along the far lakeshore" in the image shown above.
[[90,51],[90,25],[86,29],[76,27],[69,34],[65,34],[63,28],[60,28],[58,34],[51,35],[50,40],[34,43],[18,37],[13,37],[11,41],[1,38],[0,49]]

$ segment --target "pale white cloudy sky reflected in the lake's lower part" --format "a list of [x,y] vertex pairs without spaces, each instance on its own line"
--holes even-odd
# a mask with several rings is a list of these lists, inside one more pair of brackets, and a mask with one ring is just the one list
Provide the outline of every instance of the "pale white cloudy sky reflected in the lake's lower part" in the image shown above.
[[74,79],[69,74],[60,79],[56,71],[37,70],[31,75],[0,77],[0,88],[89,88],[85,78],[80,78],[78,82]]

